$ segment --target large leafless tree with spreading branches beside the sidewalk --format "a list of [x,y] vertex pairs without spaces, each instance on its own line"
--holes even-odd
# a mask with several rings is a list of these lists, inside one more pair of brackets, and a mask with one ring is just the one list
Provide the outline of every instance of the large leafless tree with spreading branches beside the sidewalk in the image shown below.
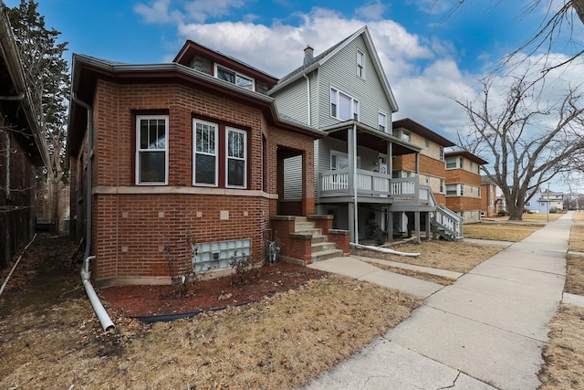
[[[556,102],[542,99],[545,78],[528,70],[512,78],[503,93],[494,75],[481,80],[476,100],[456,100],[470,120],[470,132],[459,133],[459,144],[489,165],[485,174],[502,190],[509,219],[521,220],[526,202],[541,184],[568,172],[572,158],[584,152],[584,101],[570,88]],[[511,78],[509,76],[508,78]]]

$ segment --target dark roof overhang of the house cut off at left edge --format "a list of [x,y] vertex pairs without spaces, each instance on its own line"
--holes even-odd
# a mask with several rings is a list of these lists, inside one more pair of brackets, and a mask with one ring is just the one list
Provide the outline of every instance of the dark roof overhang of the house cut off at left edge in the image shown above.
[[50,170],[47,143],[36,120],[36,110],[31,92],[26,85],[24,69],[16,49],[12,26],[5,15],[4,5],[0,1],[0,105],[8,113],[9,120],[18,126],[13,132],[32,162],[37,166],[45,165]]

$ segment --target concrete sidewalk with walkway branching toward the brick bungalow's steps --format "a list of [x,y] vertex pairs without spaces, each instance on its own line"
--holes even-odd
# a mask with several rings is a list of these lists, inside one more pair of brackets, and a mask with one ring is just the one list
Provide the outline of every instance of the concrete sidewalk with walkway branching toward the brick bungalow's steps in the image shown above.
[[[422,284],[414,295],[428,298],[412,317],[306,388],[536,389],[547,322],[562,300],[571,225],[568,213],[452,286]],[[338,260],[327,270],[369,281],[385,275],[388,287],[417,289],[408,277]]]

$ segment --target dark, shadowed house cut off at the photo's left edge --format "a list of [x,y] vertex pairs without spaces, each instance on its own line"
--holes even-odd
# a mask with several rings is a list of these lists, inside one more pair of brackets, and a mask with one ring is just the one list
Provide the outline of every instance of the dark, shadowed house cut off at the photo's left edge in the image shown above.
[[48,161],[12,27],[0,6],[0,269],[34,237],[36,167]]

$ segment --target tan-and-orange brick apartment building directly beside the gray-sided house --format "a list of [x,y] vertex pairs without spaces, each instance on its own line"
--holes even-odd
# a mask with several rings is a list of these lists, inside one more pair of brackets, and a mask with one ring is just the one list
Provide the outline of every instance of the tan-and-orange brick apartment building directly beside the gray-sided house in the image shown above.
[[[444,148],[454,146],[454,142],[433,132],[409,118],[393,121],[393,136],[411,142],[421,148],[419,154],[420,184],[429,185],[437,205],[446,205],[446,168]],[[416,155],[404,154],[393,157],[393,178],[412,177],[416,174]]]

